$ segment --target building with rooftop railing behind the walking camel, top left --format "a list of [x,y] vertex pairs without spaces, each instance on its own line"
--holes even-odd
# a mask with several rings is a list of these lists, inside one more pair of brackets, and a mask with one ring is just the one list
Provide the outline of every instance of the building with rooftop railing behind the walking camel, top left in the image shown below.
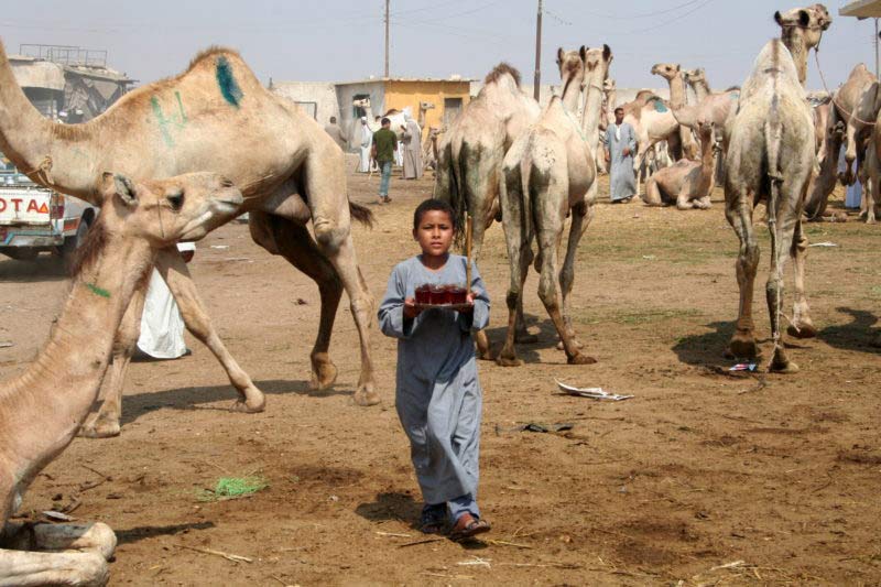
[[135,83],[107,67],[107,52],[68,45],[21,45],[9,63],[25,96],[44,116],[84,122]]

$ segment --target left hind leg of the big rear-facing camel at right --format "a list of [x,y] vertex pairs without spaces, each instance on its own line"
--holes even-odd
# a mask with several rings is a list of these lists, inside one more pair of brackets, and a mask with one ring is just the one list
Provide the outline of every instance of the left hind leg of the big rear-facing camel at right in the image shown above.
[[[730,177],[726,181],[730,182]],[[759,354],[753,335],[755,325],[752,320],[752,292],[755,283],[755,270],[759,267],[759,243],[752,227],[752,203],[749,194],[744,189],[735,198],[729,198],[728,192],[735,189],[733,187],[726,189],[725,216],[740,239],[740,250],[735,263],[740,290],[740,306],[729,349],[735,358],[751,359]]]

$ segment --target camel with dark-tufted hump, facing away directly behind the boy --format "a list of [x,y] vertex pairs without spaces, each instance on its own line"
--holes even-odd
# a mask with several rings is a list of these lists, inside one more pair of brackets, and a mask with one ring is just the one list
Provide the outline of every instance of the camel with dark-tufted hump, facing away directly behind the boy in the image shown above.
[[[483,79],[483,87],[456,117],[440,142],[435,171],[434,197],[448,203],[456,224],[465,227],[470,215],[471,254],[477,262],[483,235],[499,215],[499,181],[504,154],[514,140],[539,118],[541,109],[520,89],[520,72],[500,63]],[[461,237],[461,232],[459,232]],[[518,319],[518,341],[532,343],[522,312]],[[489,339],[477,333],[481,359],[491,360]]]

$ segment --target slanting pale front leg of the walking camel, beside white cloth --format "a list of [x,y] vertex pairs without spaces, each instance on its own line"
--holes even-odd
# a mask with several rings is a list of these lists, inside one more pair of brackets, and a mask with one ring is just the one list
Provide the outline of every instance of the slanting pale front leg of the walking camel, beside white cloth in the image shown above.
[[162,279],[165,280],[168,290],[171,290],[174,301],[177,302],[177,308],[181,311],[181,317],[184,319],[186,329],[208,347],[217,360],[220,361],[227,372],[227,377],[229,377],[229,382],[239,392],[239,399],[231,410],[242,413],[262,412],[267,404],[263,392],[257,389],[248,373],[239,367],[239,363],[236,362],[236,359],[224,346],[224,341],[220,340],[205,304],[199,297],[196,284],[193,283],[189,269],[187,269],[175,247],[159,251],[156,254],[156,269]]

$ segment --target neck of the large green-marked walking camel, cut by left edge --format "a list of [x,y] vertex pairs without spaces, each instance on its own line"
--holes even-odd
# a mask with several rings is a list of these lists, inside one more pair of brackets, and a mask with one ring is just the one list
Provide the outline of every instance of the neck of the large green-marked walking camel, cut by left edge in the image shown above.
[[19,87],[0,43],[0,150],[19,171],[45,187],[97,202],[90,128],[43,117]]

